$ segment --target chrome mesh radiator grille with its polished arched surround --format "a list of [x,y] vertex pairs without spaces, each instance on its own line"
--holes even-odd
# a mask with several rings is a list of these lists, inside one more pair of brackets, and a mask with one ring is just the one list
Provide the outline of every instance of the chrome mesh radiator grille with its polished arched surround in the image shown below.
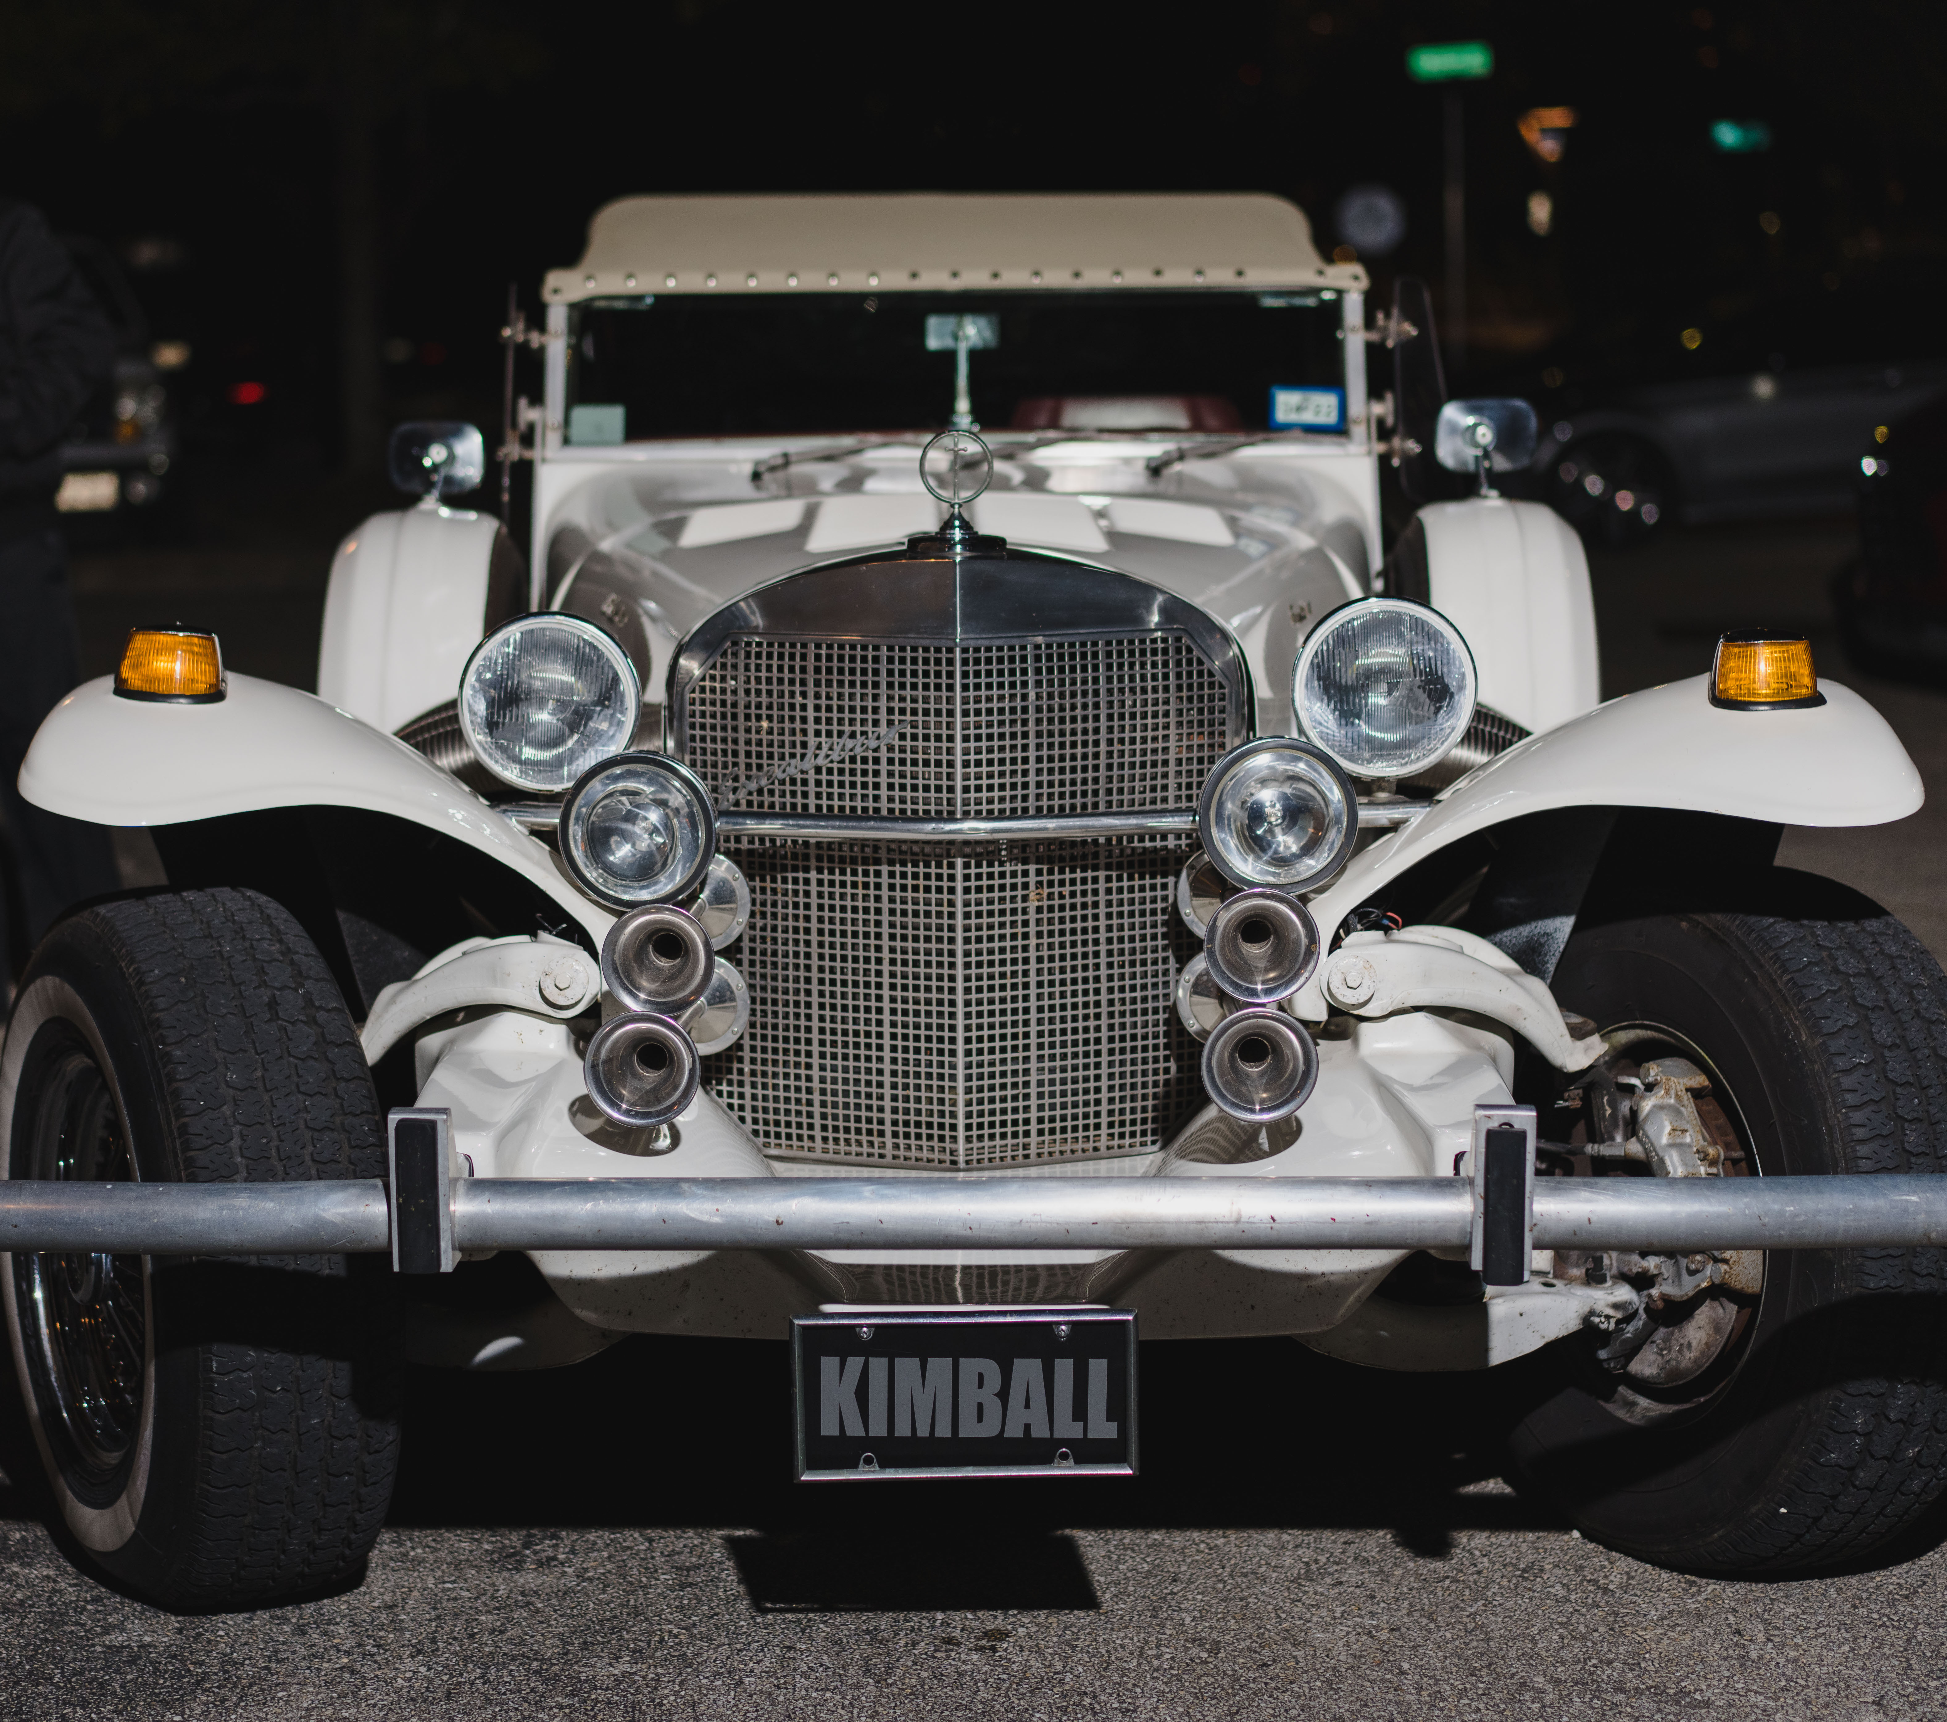
[[[726,813],[903,823],[1190,807],[1250,706],[1234,642],[1192,605],[981,556],[765,588],[697,630],[670,710]],[[1194,844],[726,831],[752,1016],[705,1082],[775,1154],[974,1169],[1160,1148],[1203,1103],[1170,913]]]

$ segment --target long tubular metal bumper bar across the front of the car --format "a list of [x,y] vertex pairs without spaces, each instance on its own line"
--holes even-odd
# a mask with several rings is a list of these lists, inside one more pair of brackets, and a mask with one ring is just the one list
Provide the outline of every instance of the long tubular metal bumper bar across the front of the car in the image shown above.
[[[434,1185],[432,1189],[438,1189]],[[1464,1249],[1462,1177],[450,1179],[446,1201],[339,1183],[0,1181],[0,1249]],[[1536,1249],[1865,1249],[1947,1243],[1947,1177],[1538,1179]]]

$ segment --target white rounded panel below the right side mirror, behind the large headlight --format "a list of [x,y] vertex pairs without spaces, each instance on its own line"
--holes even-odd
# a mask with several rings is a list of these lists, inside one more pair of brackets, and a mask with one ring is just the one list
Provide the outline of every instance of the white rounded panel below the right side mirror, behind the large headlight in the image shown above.
[[1538,502],[1476,496],[1419,510],[1429,601],[1474,650],[1480,702],[1525,730],[1600,697],[1595,599],[1581,539]]

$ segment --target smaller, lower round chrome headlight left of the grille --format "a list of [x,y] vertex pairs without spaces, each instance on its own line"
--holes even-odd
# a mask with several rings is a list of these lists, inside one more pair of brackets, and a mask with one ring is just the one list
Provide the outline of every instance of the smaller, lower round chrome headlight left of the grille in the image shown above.
[[627,909],[697,889],[716,850],[716,811],[687,767],[662,753],[619,753],[561,806],[561,858],[596,901]]

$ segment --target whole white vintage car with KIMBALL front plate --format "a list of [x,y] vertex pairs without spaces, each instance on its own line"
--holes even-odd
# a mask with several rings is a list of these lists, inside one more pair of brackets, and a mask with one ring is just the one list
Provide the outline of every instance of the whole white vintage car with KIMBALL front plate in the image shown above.
[[[407,426],[315,699],[183,630],[76,689],[21,790],[169,887],[0,1060],[70,1543],[345,1582],[399,1356],[627,1333],[789,1337],[806,1479],[1127,1475],[1137,1327],[1433,1417],[1548,1346],[1513,1475],[1649,1561],[1906,1527],[1947,990],[1772,862],[1920,778],[1801,638],[1600,704],[1491,488],[1532,414],[1365,286],[1269,197],[627,198],[528,341],[526,555]],[[1480,494],[1386,545],[1429,446]]]

